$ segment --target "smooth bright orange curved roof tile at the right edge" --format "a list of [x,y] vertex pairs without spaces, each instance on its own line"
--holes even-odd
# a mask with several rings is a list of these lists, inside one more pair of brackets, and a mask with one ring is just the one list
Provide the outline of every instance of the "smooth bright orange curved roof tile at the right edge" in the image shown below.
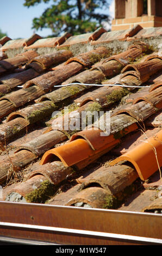
[[110,162],[114,165],[121,161],[129,161],[133,164],[141,180],[146,180],[162,166],[162,130],[154,136],[149,137],[146,141],[126,154]]

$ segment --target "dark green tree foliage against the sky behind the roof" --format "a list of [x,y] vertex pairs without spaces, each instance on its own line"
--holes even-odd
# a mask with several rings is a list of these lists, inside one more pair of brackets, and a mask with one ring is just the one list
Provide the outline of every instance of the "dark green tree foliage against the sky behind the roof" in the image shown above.
[[[25,0],[24,6],[32,7],[50,0]],[[101,22],[109,21],[107,14],[101,14],[97,8],[108,10],[107,0],[53,0],[40,17],[33,19],[36,30],[51,28],[53,36],[68,32],[72,35],[94,32],[101,27]]]

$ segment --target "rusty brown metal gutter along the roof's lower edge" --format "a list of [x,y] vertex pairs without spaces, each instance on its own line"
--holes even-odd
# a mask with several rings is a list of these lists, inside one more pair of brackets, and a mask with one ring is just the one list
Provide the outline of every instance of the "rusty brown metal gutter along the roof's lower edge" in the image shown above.
[[[55,245],[161,245],[160,214],[0,202],[0,241]],[[17,240],[17,241],[18,241]]]

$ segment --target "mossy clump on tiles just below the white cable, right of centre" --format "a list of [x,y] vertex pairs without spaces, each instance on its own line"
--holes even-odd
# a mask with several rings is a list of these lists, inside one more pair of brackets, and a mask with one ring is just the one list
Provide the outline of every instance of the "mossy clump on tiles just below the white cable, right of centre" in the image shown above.
[[121,101],[121,99],[128,94],[128,90],[122,88],[121,90],[113,90],[113,92],[107,95],[108,104]]

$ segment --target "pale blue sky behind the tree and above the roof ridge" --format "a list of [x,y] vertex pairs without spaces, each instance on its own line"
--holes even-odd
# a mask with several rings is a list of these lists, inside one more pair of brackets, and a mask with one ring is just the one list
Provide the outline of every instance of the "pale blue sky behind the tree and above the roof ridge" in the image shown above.
[[[2,2],[2,0],[1,0]],[[0,2],[0,3],[1,3]],[[50,6],[49,4],[41,3],[35,7],[24,7],[24,0],[4,0],[1,3],[0,28],[3,33],[7,33],[11,39],[28,38],[34,32],[45,37],[51,34],[51,29],[45,28],[34,31],[32,29],[32,20],[34,17],[39,17],[43,11]],[[51,2],[53,2],[51,0]],[[109,15],[114,13],[114,0],[108,0],[110,3]]]

